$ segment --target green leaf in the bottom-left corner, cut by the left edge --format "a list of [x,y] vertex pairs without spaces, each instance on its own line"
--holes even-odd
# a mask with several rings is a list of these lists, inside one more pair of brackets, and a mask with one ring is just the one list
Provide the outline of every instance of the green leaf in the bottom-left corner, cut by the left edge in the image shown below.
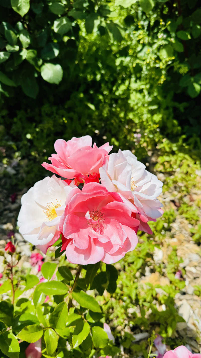
[[18,358],[20,345],[13,333],[7,331],[0,334],[0,349],[9,358]]

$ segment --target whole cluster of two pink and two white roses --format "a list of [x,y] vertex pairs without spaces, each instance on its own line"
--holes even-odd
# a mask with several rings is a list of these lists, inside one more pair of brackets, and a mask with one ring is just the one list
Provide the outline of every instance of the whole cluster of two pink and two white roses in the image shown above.
[[47,176],[22,196],[19,232],[43,253],[61,235],[71,263],[120,260],[137,245],[137,230],[151,233],[147,222],[162,215],[162,182],[131,151],[109,154],[109,143],[92,146],[88,135],[54,147],[42,166],[60,178]]

